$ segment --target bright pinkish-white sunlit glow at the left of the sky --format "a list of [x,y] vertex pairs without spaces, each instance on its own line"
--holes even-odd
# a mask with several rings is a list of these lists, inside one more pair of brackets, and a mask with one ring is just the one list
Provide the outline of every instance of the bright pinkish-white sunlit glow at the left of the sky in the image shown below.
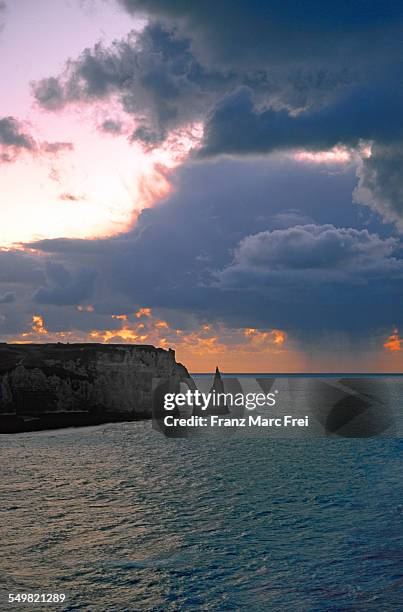
[[45,123],[42,114],[36,121],[38,140],[56,141],[67,132],[70,146],[57,153],[26,151],[13,164],[0,164],[2,199],[13,202],[3,211],[2,246],[115,236],[130,229],[142,209],[168,195],[170,173],[200,138],[200,128],[190,127],[149,150],[130,142],[129,135],[101,134],[91,127],[91,117],[86,124],[76,113],[64,115],[62,123],[55,117]]

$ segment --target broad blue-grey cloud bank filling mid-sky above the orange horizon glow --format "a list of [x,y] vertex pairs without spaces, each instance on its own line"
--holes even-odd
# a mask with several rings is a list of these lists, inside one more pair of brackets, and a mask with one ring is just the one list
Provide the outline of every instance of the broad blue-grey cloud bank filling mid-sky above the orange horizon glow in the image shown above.
[[[281,159],[192,164],[130,233],[30,246],[64,268],[96,270],[91,299],[107,310],[113,296],[112,312],[140,304],[305,335],[332,329],[365,336],[399,324],[397,239],[362,230],[358,207],[356,227],[346,225],[354,223],[352,176],[291,168]],[[290,201],[292,226],[278,230],[277,215]],[[298,214],[315,221],[294,227]]]

